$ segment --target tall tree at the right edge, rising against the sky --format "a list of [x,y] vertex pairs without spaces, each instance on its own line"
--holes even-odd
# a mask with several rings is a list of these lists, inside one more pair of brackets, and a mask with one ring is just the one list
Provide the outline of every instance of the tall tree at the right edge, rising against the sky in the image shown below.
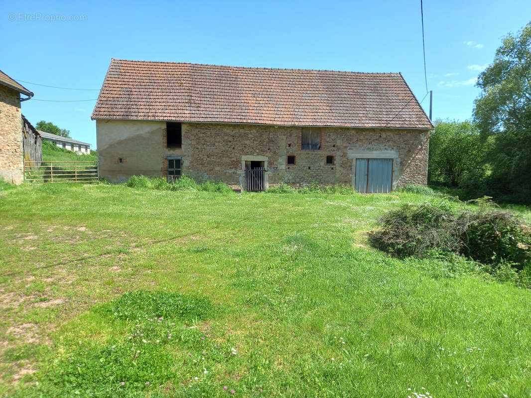
[[482,91],[474,119],[483,139],[492,139],[487,157],[493,183],[521,193],[531,187],[531,22],[503,39],[477,86]]

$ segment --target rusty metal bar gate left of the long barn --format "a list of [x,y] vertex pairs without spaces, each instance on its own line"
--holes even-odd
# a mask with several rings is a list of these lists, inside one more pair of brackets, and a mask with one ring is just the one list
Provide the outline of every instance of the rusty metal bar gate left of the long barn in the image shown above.
[[98,161],[24,161],[24,180],[33,183],[90,183],[98,180]]

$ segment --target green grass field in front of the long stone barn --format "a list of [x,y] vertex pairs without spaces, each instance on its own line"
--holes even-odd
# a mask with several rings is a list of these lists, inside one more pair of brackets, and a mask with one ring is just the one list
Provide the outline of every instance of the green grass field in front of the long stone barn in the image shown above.
[[531,396],[530,290],[367,245],[440,199],[0,188],[4,396]]

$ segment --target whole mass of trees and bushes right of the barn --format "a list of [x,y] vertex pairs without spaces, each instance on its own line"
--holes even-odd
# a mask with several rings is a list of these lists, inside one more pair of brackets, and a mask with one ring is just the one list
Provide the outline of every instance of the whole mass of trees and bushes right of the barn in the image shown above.
[[430,184],[464,199],[531,203],[531,22],[509,33],[479,74],[474,122],[437,121]]

